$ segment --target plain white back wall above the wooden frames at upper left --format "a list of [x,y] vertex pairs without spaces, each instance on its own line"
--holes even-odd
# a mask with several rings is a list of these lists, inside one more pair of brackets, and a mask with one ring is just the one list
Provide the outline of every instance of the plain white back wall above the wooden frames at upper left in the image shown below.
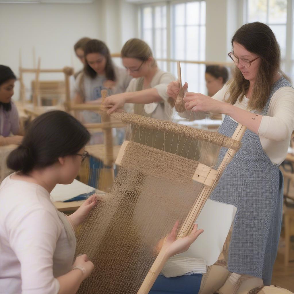
[[[63,68],[81,64],[74,55],[74,43],[83,36],[100,37],[100,11],[93,4],[0,4],[0,64],[19,75],[22,66],[33,67],[33,47],[41,68]],[[32,76],[26,76],[26,80]],[[60,79],[62,75],[42,74],[40,78]],[[27,82],[26,82],[27,84]],[[15,99],[18,99],[16,88]]]

